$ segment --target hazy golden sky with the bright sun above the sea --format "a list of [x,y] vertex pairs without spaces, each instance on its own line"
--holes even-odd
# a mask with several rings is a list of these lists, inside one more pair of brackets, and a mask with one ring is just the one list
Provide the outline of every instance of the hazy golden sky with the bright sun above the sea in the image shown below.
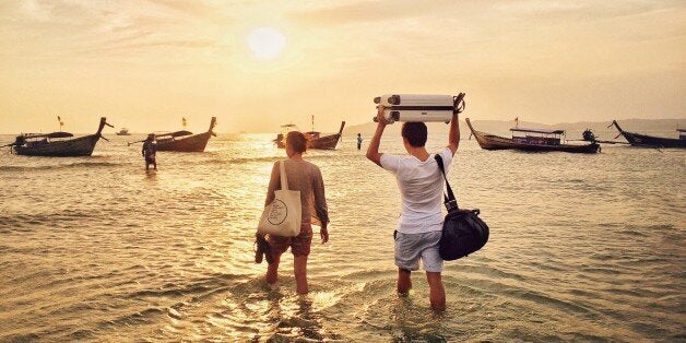
[[386,93],[465,92],[474,120],[686,118],[683,0],[9,0],[0,42],[2,133],[331,132]]

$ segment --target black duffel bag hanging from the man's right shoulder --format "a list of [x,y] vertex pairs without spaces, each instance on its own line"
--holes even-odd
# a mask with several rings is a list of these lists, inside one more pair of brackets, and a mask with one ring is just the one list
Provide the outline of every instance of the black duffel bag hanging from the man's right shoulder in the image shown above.
[[462,210],[458,208],[458,200],[452,193],[446,177],[443,159],[438,154],[436,155],[436,162],[438,162],[438,168],[446,179],[446,188],[448,190],[447,196],[443,193],[448,214],[443,221],[438,252],[441,259],[452,261],[463,258],[486,245],[486,241],[488,241],[488,225],[478,217],[478,210]]

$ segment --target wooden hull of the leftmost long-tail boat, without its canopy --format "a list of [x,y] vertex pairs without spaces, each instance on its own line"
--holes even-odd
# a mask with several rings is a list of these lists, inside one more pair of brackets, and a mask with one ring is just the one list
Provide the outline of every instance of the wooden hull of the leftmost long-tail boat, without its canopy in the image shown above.
[[100,139],[103,128],[110,125],[106,119],[100,118],[100,123],[95,134],[80,137],[73,140],[54,141],[46,143],[31,143],[13,145],[12,150],[17,155],[24,156],[48,156],[48,157],[80,157],[91,156],[95,144]]

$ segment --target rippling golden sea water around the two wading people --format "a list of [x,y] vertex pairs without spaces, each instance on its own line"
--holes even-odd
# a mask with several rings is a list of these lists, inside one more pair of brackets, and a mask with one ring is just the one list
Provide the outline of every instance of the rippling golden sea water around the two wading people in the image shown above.
[[[100,141],[90,158],[0,154],[0,341],[686,340],[684,150],[488,152],[463,140],[449,179],[490,240],[446,263],[448,310],[435,315],[422,272],[409,297],[394,292],[400,196],[354,138],[306,155],[332,220],[330,243],[314,240],[306,296],[289,253],[276,289],[252,261],[284,157],[272,135],[161,152],[156,173],[134,139]],[[382,147],[402,152],[398,137]]]

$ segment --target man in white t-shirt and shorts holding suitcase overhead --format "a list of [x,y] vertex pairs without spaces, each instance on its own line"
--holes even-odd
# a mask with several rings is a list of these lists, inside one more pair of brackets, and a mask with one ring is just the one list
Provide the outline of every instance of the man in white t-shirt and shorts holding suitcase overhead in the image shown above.
[[[429,300],[436,311],[446,309],[446,291],[440,277],[443,261],[438,253],[438,241],[442,229],[443,177],[434,154],[426,149],[427,129],[424,122],[405,122],[402,128],[403,144],[410,156],[379,153],[381,134],[388,125],[383,107],[379,106],[378,126],[367,158],[387,169],[398,178],[402,196],[402,212],[395,232],[395,265],[398,265],[398,293],[406,295],[412,288],[410,274],[419,269],[419,260],[426,271]],[[460,144],[458,115],[452,115],[448,146],[438,154],[443,159],[446,173]]]

